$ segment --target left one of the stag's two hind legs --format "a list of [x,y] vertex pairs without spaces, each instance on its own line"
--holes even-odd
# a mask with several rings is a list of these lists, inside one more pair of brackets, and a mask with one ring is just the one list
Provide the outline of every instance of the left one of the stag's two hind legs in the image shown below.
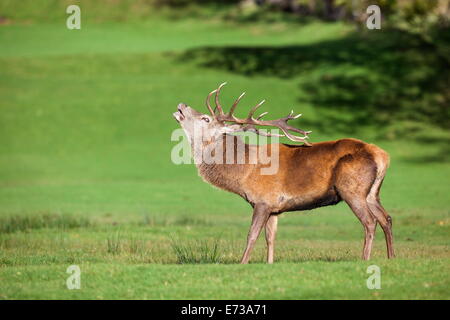
[[364,227],[365,237],[364,237],[364,248],[362,258],[363,260],[369,260],[370,253],[372,252],[373,239],[375,238],[375,229],[377,227],[377,221],[372,216],[372,213],[369,210],[366,201],[362,199],[358,200],[352,199],[350,201],[346,200],[346,202],[350,206],[356,217],[359,219],[359,221],[361,221],[361,224]]

